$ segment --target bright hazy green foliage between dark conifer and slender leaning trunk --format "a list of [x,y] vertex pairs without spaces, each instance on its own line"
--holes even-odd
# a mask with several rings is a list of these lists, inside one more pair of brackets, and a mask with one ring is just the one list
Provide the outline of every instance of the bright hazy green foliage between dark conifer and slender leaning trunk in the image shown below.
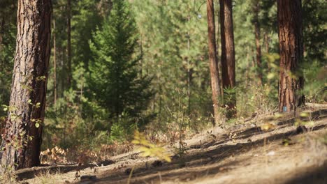
[[178,104],[175,89],[187,91],[182,101],[194,119],[212,112],[208,25],[202,1],[133,1],[143,48],[143,73],[153,76],[156,94],[152,111],[155,124],[170,123],[166,117]]

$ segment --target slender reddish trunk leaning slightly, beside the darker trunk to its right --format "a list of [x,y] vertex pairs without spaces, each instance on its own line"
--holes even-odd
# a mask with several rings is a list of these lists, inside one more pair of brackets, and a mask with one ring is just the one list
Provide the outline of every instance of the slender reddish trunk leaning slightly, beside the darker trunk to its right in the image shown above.
[[210,60],[210,79],[212,89],[212,102],[214,109],[215,125],[220,122],[219,113],[219,70],[217,59],[217,45],[215,36],[215,8],[213,0],[207,0],[207,17],[208,17],[208,47],[209,47],[209,60]]

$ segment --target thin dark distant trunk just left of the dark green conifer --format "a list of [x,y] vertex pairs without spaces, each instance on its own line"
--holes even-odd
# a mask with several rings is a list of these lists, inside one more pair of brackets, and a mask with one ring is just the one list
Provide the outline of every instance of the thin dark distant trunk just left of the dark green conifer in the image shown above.
[[68,89],[71,87],[72,70],[71,70],[71,0],[67,1],[67,60],[68,60]]

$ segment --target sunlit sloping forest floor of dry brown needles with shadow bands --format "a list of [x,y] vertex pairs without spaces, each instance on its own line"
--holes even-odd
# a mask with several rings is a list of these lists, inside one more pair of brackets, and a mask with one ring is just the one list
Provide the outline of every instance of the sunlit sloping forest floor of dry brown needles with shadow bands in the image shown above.
[[[263,131],[266,122],[272,127]],[[294,123],[291,116],[262,117],[226,128],[224,135],[206,130],[187,139],[184,155],[170,163],[131,152],[103,162],[96,172],[84,167],[78,180],[77,166],[17,176],[22,183],[127,183],[134,168],[131,183],[327,183],[327,107],[314,109],[305,128]]]

